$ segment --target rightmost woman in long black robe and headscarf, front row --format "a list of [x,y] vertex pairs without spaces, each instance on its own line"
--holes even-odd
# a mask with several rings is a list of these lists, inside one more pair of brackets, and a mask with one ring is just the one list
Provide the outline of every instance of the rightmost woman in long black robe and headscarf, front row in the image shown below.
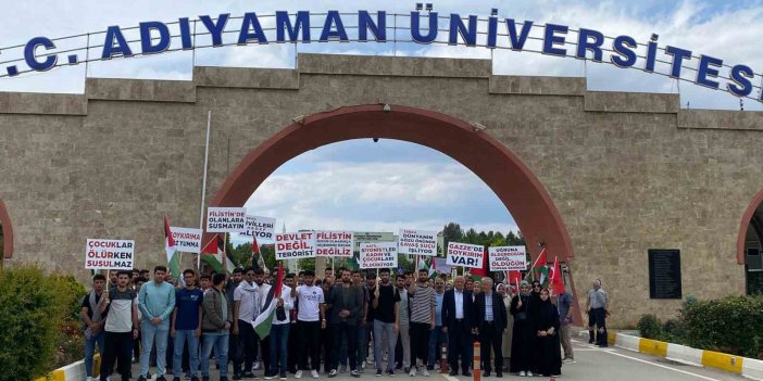
[[535,308],[535,334],[538,372],[543,377],[562,373],[562,352],[559,348],[559,310],[551,303],[549,290],[540,292],[540,305]]

